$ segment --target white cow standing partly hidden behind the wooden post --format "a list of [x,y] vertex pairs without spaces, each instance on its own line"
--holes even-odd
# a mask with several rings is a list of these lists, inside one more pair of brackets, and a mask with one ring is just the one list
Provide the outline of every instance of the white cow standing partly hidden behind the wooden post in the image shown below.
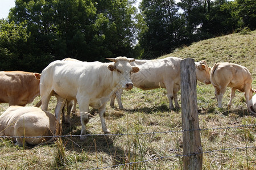
[[[170,109],[179,108],[177,102],[177,92],[180,90],[180,62],[181,58],[167,57],[163,59],[137,59],[132,66],[138,66],[140,71],[131,74],[131,81],[135,87],[142,90],[152,90],[155,88],[166,88]],[[195,62],[196,78],[205,84],[210,83],[210,71],[205,61]],[[121,102],[122,89],[118,89],[112,96],[110,106],[114,107],[115,96],[117,97],[119,109],[123,109]]]

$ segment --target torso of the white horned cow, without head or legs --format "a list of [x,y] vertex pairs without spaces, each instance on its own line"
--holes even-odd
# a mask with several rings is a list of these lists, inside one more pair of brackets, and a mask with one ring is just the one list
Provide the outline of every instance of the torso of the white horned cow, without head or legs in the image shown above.
[[101,62],[76,62],[76,61],[54,61],[42,71],[40,90],[52,90],[57,95],[66,99],[76,99],[80,91],[86,96],[97,96],[97,89],[101,86],[109,86],[103,82],[109,63]]

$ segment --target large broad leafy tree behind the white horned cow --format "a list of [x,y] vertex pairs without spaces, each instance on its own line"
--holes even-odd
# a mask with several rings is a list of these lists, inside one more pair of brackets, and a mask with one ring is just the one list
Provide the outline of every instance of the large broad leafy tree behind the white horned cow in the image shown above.
[[67,57],[81,61],[134,57],[138,24],[137,9],[132,3],[129,0],[16,0],[9,21],[16,25],[23,23],[30,34],[26,41],[30,50],[22,54],[23,58],[44,58],[43,68],[55,59]]

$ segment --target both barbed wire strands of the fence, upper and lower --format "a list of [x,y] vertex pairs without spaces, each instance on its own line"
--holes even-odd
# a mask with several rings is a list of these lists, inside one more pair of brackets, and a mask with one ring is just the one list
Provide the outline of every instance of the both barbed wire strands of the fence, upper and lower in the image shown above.
[[[163,134],[163,133],[182,133],[183,131],[195,131],[195,130],[221,130],[221,129],[237,129],[237,128],[247,128],[247,127],[253,127],[256,126],[256,124],[248,124],[248,125],[239,125],[239,126],[227,126],[223,128],[204,128],[204,129],[193,129],[193,130],[170,130],[170,131],[153,131],[153,132],[148,132],[148,133],[121,133],[121,134],[85,134],[84,136],[86,137],[93,137],[93,136],[119,136],[119,135],[150,135],[150,134]],[[0,138],[49,138],[49,137],[55,137],[55,138],[71,138],[71,137],[80,137],[81,135],[52,135],[52,136],[37,136],[37,137],[24,137],[24,136],[19,136],[19,137],[9,137],[2,135]],[[222,148],[220,150],[209,150],[209,151],[203,151],[203,154],[210,154],[213,152],[220,152],[220,151],[226,151],[226,150],[247,150],[247,149],[253,149],[256,148],[256,146],[246,146],[246,147],[233,147],[233,148]],[[106,167],[97,167],[97,168],[90,168],[88,170],[92,169],[106,169],[106,168],[115,168],[115,167],[121,167],[121,166],[129,166],[132,164],[138,164],[138,163],[145,163],[145,162],[151,162],[154,160],[163,160],[163,159],[168,159],[168,158],[174,158],[174,157],[179,157],[179,156],[193,156],[197,154],[202,154],[202,153],[193,153],[193,154],[188,154],[188,155],[181,155],[181,154],[174,154],[170,156],[158,156],[156,158],[152,159],[146,159],[146,160],[141,160],[138,162],[129,162],[129,163],[123,163],[123,164],[116,164],[116,165],[109,165]]]

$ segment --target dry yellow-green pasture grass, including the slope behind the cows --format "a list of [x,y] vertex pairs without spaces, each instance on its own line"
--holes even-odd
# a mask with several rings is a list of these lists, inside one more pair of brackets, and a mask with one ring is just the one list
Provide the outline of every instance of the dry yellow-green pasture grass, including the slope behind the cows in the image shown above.
[[[253,88],[256,88],[256,31],[196,42],[162,58],[168,56],[194,58],[195,61],[204,59],[211,67],[216,62],[238,63],[249,69]],[[213,86],[197,82],[199,122],[204,129],[201,130],[201,143],[206,152],[203,169],[256,169],[255,126],[218,129],[256,124],[256,118],[247,112],[243,93],[237,91],[232,107],[226,109],[229,93],[230,88],[224,95],[224,108],[219,109]],[[180,92],[178,96],[180,104]],[[37,97],[30,105],[39,99]],[[108,105],[106,124],[111,134],[130,135],[92,135],[86,141],[80,141],[79,137],[63,137],[38,147],[18,147],[10,139],[1,138],[0,169],[183,169],[182,156],[177,156],[183,154],[181,109],[168,109],[166,90],[133,88],[123,92],[122,102],[125,111]],[[55,97],[52,97],[50,112],[54,113],[55,105]],[[8,105],[0,107],[2,113]],[[86,130],[89,134],[103,134],[98,114],[89,121]],[[71,117],[71,126],[63,127],[63,135],[79,135],[80,131],[80,117],[76,113]],[[171,132],[151,133],[164,131]],[[246,146],[254,148],[240,148]],[[148,159],[150,161],[142,162]],[[113,166],[133,162],[139,163]]]

